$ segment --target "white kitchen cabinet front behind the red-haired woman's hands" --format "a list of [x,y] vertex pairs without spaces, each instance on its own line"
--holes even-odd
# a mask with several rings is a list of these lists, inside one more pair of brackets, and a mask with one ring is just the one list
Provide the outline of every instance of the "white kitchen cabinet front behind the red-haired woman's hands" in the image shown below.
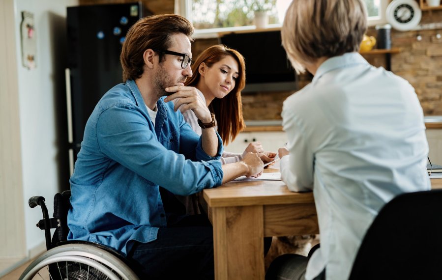
[[284,131],[241,132],[224,149],[228,152],[243,153],[247,145],[255,141],[260,141],[265,151],[277,153],[278,148],[287,142],[287,135]]

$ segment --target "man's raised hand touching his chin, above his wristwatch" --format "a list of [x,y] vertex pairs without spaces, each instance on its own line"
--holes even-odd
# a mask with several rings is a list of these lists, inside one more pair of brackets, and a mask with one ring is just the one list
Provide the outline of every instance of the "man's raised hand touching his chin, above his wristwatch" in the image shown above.
[[206,102],[200,97],[197,89],[193,86],[174,85],[166,87],[167,92],[175,92],[164,99],[164,102],[177,100],[175,103],[175,112],[183,105],[182,112],[192,110],[197,118],[203,123],[212,121],[212,116],[207,108]]

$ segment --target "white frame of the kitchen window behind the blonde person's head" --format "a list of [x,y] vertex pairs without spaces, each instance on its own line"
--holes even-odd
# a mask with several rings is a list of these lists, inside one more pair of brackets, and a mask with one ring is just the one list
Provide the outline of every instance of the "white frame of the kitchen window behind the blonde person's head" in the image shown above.
[[[368,20],[368,26],[376,26],[378,24],[386,24],[385,11],[389,4],[389,0],[380,0],[380,16],[372,17]],[[192,0],[175,0],[175,13],[181,15],[192,22]],[[271,24],[267,28],[281,28],[282,24]],[[242,30],[255,30],[255,26],[241,26],[241,27],[227,27],[227,28],[209,28],[209,29],[195,29],[195,38],[216,38],[219,32],[233,32]]]

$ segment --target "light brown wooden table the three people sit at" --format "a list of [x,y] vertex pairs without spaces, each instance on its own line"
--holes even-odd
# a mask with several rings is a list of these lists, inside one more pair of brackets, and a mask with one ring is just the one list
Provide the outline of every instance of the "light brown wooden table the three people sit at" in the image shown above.
[[[442,188],[442,179],[431,183]],[[203,197],[217,280],[264,279],[264,236],[319,233],[313,193],[290,192],[282,181],[229,182]]]

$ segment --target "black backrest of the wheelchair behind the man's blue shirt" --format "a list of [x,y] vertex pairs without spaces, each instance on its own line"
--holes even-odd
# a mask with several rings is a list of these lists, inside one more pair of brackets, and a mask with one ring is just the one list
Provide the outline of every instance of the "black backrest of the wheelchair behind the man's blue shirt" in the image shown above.
[[67,212],[71,207],[69,198],[71,191],[64,191],[54,196],[54,219],[57,221],[57,228],[52,237],[52,246],[57,246],[60,241],[66,241],[69,227],[67,226]]

